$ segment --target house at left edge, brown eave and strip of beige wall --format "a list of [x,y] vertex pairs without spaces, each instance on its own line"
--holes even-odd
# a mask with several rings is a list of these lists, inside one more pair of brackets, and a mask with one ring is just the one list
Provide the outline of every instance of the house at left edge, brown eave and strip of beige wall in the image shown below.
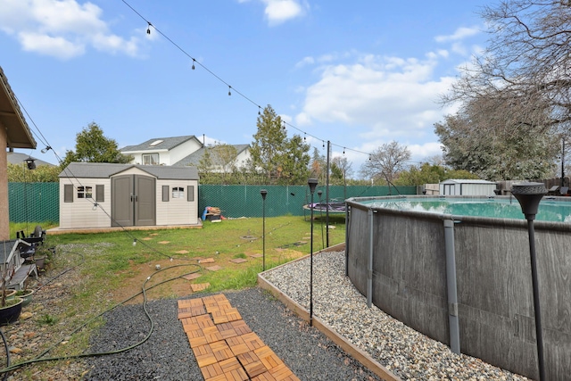
[[36,148],[28,123],[16,96],[0,67],[0,240],[10,238],[8,210],[8,155],[6,149]]

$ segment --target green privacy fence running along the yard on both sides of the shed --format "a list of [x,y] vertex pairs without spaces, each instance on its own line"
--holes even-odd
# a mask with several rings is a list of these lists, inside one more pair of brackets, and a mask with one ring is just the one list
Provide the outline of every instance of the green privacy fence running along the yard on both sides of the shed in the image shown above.
[[[291,214],[302,216],[303,205],[310,203],[308,186],[219,186],[198,187],[198,211],[202,215],[207,206],[220,208],[228,218],[261,217],[261,189],[266,189],[266,216],[276,217]],[[325,202],[325,186],[318,186],[313,201]],[[8,198],[11,222],[42,222],[60,220],[58,183],[9,183]],[[343,202],[349,197],[373,195],[416,195],[416,186],[329,186],[329,199]]]

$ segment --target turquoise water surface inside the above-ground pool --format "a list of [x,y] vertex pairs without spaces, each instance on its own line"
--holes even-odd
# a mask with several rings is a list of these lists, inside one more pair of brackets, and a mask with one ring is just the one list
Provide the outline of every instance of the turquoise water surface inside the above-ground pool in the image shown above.
[[[492,219],[525,219],[515,197],[507,198],[402,198],[360,200],[359,203],[400,211],[421,211]],[[543,198],[536,220],[571,222],[571,202]]]

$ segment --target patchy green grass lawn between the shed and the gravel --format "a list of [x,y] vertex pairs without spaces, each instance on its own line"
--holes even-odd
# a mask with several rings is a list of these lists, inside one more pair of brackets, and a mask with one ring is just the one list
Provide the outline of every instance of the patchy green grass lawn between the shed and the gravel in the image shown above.
[[[330,216],[329,225],[334,228],[329,229],[329,246],[344,241],[344,223],[344,216]],[[21,230],[28,235],[37,225],[44,229],[55,227],[49,223],[11,224],[11,237]],[[96,317],[121,302],[143,302],[143,287],[152,300],[194,294],[192,285],[210,284],[204,290],[208,293],[255,286],[264,259],[266,269],[270,269],[310,253],[310,225],[309,217],[267,218],[265,240],[261,218],[204,221],[203,228],[57,235],[48,232],[44,249],[37,253],[49,254],[49,270],[40,276],[40,282],[62,283],[66,297],[59,302],[62,308],[58,312],[32,308],[34,316],[27,321],[35,327],[30,330],[50,330],[58,337],[62,327],[66,327],[67,333],[89,321],[87,328],[73,334],[69,343],[50,353],[62,356],[83,352],[93,330],[103,323]],[[314,252],[327,245],[326,231],[325,220],[314,219]],[[54,254],[46,250],[52,247]],[[208,261],[201,263],[200,259]],[[72,275],[74,284],[67,285],[66,277],[59,277],[61,274]],[[60,365],[39,363],[24,374]]]

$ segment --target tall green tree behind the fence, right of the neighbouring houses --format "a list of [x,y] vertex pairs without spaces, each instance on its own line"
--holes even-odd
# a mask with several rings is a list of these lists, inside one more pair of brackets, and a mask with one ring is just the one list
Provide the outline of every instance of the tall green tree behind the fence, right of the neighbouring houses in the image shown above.
[[250,148],[250,172],[261,173],[266,184],[307,181],[310,146],[298,135],[287,138],[281,117],[270,105],[258,116],[257,127]]

